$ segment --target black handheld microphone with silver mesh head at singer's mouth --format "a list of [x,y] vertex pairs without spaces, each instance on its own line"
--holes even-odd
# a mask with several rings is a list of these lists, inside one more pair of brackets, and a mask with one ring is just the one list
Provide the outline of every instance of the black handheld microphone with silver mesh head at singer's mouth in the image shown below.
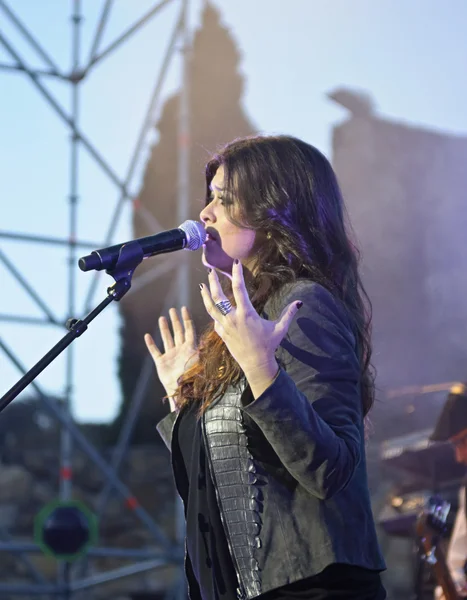
[[[132,240],[131,243],[137,242],[143,251],[144,258],[149,258],[156,254],[165,254],[166,252],[174,252],[175,250],[198,250],[206,240],[206,230],[198,223],[198,221],[185,221],[176,229],[162,231],[155,235],[138,238]],[[91,254],[82,256],[78,261],[78,266],[81,271],[102,271],[103,269],[111,270],[115,267],[120,255],[120,250],[125,244],[115,244],[108,248],[93,250]]]

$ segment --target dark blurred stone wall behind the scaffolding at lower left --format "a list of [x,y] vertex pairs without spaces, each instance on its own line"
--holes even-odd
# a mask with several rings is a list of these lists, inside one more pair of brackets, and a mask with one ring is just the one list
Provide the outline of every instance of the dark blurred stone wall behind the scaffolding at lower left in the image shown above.
[[[7,411],[5,411],[6,413]],[[26,430],[33,422],[25,422]],[[10,432],[0,440],[0,541],[31,543],[34,519],[47,503],[58,498],[59,463],[57,431],[43,432],[42,438],[35,432],[32,445],[20,432]],[[157,436],[157,432],[155,432]],[[7,439],[8,438],[8,439]],[[21,443],[16,443],[21,440]],[[111,450],[103,452],[110,461]],[[170,457],[162,443],[131,448],[120,470],[122,480],[134,493],[139,503],[149,512],[162,532],[175,538],[176,492],[170,467]],[[95,510],[105,478],[100,470],[81,452],[75,450],[73,457],[73,499]],[[120,496],[113,493],[99,521],[98,547],[128,549],[159,549],[152,534],[141,521],[124,506]],[[57,575],[57,561],[42,553],[28,554],[28,559],[50,582]],[[90,558],[91,574],[132,564],[131,559]],[[80,568],[73,563],[72,576]],[[164,567],[111,583],[91,588],[81,596],[87,600],[133,600],[158,598],[160,591],[171,587],[179,571]],[[28,566],[21,556],[0,552],[0,584],[33,583]],[[149,594],[150,592],[150,594]],[[144,595],[148,594],[148,595]],[[9,600],[0,594],[1,600]],[[31,596],[32,597],[32,596]],[[12,596],[18,598],[18,596]],[[29,597],[28,597],[29,598]]]

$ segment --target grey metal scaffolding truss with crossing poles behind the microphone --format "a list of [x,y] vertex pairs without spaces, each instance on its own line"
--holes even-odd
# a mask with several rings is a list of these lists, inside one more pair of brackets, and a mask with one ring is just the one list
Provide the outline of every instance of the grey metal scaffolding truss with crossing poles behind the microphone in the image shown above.
[[[165,55],[162,58],[160,70],[151,99],[144,116],[139,136],[135,144],[129,165],[124,177],[120,177],[106,161],[105,157],[93,145],[90,138],[80,129],[79,114],[80,114],[80,84],[86,79],[91,70],[98,67],[99,63],[108,57],[116,48],[119,48],[126,40],[135,35],[143,25],[146,25],[153,19],[166,5],[178,4],[178,17],[170,36]],[[28,30],[22,20],[15,14],[10,6],[4,0],[0,0],[0,12],[3,12],[6,19],[16,28],[18,33],[29,44],[32,50],[35,51],[37,57],[41,59],[44,67],[41,69],[31,68],[23,59],[20,52],[15,48],[4,33],[0,32],[0,43],[6,50],[6,53],[11,57],[11,62],[8,64],[0,64],[0,69],[3,71],[21,72],[28,78],[39,93],[46,100],[52,111],[70,130],[70,187],[69,187],[69,231],[68,237],[45,237],[41,235],[25,235],[19,232],[0,231],[0,239],[14,239],[28,244],[48,244],[57,248],[67,246],[68,249],[68,316],[74,317],[76,310],[76,271],[77,271],[77,251],[107,246],[112,242],[112,236],[117,227],[123,206],[126,202],[132,202],[134,198],[130,192],[131,185],[135,173],[135,167],[138,159],[144,149],[145,141],[154,126],[154,114],[163,91],[164,81],[168,67],[171,63],[176,51],[179,50],[182,56],[182,73],[180,85],[180,115],[178,127],[178,219],[182,222],[188,218],[188,202],[189,202],[189,113],[188,113],[188,58],[190,49],[190,38],[188,28],[188,0],[162,0],[154,5],[145,15],[138,21],[129,26],[117,39],[110,43],[104,49],[101,49],[102,34],[109,19],[112,10],[113,0],[105,0],[102,6],[101,14],[94,33],[91,48],[89,49],[88,58],[83,60],[82,44],[81,44],[81,21],[82,7],[81,0],[73,0],[72,3],[72,39],[71,39],[71,70],[69,73],[62,72],[56,62],[47,53],[40,41]],[[54,97],[54,94],[47,88],[46,81],[49,78],[58,78],[65,84],[70,86],[71,91],[71,108],[68,112],[60,102]],[[110,218],[107,231],[101,244],[94,244],[80,241],[77,231],[77,213],[78,213],[78,151],[82,147],[100,167],[102,172],[115,185],[118,192],[118,199],[115,205],[114,212]],[[135,210],[138,205],[135,203]],[[144,213],[141,214],[145,218]],[[149,219],[148,225],[152,230],[160,230],[155,218],[151,215],[146,215]],[[15,266],[4,252],[0,249],[0,262],[17,280],[24,291],[33,300],[36,306],[39,307],[43,314],[42,319],[37,317],[22,316],[11,314],[0,315],[0,320],[28,323],[28,324],[48,324],[52,326],[65,327],[65,323],[54,315],[54,311],[47,306],[47,303],[41,299],[39,292],[31,285],[27,277]],[[171,261],[170,268],[174,268],[174,263]],[[183,304],[188,304],[188,264],[186,261],[179,262],[176,266],[178,269],[178,277],[175,278],[177,285],[177,295]],[[164,263],[160,263],[158,268],[150,273],[152,279],[156,278],[158,273],[164,272]],[[147,278],[147,274],[146,274]],[[98,277],[95,274],[91,280],[88,293],[85,300],[84,313],[90,310],[97,287]],[[137,283],[137,282],[136,282]],[[143,284],[144,285],[144,284]],[[172,293],[175,289],[172,290]],[[167,294],[166,303],[171,301],[170,293]],[[0,337],[0,349],[8,357],[11,363],[17,368],[18,372],[24,375],[27,368],[23,365],[19,356]],[[127,486],[120,480],[118,476],[119,467],[125,457],[128,449],[129,440],[132,429],[138,416],[142,400],[145,396],[147,383],[152,371],[151,360],[143,364],[139,381],[135,387],[134,395],[131,400],[128,416],[120,432],[118,443],[114,449],[110,463],[106,462],[100,455],[97,449],[87,440],[80,429],[75,425],[71,416],[71,390],[75,377],[75,365],[72,347],[67,349],[66,354],[66,374],[65,374],[65,394],[62,402],[57,402],[55,398],[50,397],[41,387],[33,382],[32,388],[37,396],[42,400],[44,407],[51,415],[59,422],[61,426],[61,441],[60,441],[60,499],[68,500],[72,492],[72,453],[73,448],[78,447],[83,451],[100,469],[105,477],[105,487],[101,491],[96,509],[97,516],[102,516],[106,510],[108,501],[112,492],[116,492],[125,503],[129,510],[132,510],[135,516],[141,521],[154,538],[157,551],[149,549],[123,549],[123,548],[93,548],[88,551],[87,556],[93,557],[121,557],[134,561],[122,568],[118,568],[106,573],[89,575],[86,572],[86,563],[81,565],[78,577],[70,577],[69,565],[62,561],[60,563],[59,574],[56,583],[48,582],[44,576],[34,567],[28,558],[31,552],[40,552],[38,546],[34,543],[18,544],[12,539],[11,535],[6,530],[0,529],[0,552],[12,552],[25,564],[28,572],[34,580],[31,584],[21,585],[6,585],[0,584],[0,596],[10,595],[26,595],[31,596],[49,596],[70,598],[77,592],[84,592],[85,597],[89,597],[86,590],[101,583],[105,583],[118,578],[143,573],[158,567],[177,565],[180,567],[180,573],[183,568],[183,515],[178,511],[179,536],[177,542],[172,542],[163,533],[162,529],[154,521],[152,516],[138,503],[137,498],[131,493]],[[0,416],[1,418],[1,416]],[[180,505],[178,504],[180,509]],[[171,590],[173,597],[184,594],[183,577],[177,582],[174,590]]]

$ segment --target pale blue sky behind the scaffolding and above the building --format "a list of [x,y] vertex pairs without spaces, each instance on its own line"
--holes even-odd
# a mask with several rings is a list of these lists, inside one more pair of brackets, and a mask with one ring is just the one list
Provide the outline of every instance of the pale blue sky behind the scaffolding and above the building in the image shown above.
[[[7,4],[60,68],[69,72],[71,0]],[[89,57],[103,4],[82,2],[81,64]],[[116,0],[100,48],[155,4]],[[241,51],[243,103],[258,131],[299,136],[331,157],[332,129],[346,118],[346,111],[327,94],[348,87],[370,94],[381,117],[467,135],[465,0],[213,0],[213,4]],[[191,32],[199,24],[202,6],[202,0],[190,0]],[[98,63],[80,86],[79,127],[120,179],[125,177],[179,7],[179,0],[163,7],[139,33]],[[1,9],[0,31],[28,66],[46,67]],[[13,63],[0,43],[0,64]],[[154,120],[164,99],[180,85],[180,67],[177,53]],[[69,84],[41,81],[69,113]],[[145,139],[129,186],[132,194],[138,193],[156,139],[155,131]],[[14,265],[59,321],[83,316],[92,276],[74,266],[77,291],[70,315],[67,249],[19,242],[2,233],[67,238],[69,141],[68,126],[26,75],[0,69],[0,339],[26,369],[65,330],[11,319],[12,315],[41,318],[43,312],[1,258]],[[83,149],[78,192],[78,239],[102,247],[118,191]],[[131,238],[130,209],[126,203],[113,243]],[[107,275],[100,277],[92,306],[105,297],[111,283]],[[119,407],[117,308],[108,307],[73,344],[71,408],[80,421],[108,421]],[[36,381],[44,392],[60,396],[65,374],[62,355]],[[0,396],[21,375],[0,349]]]

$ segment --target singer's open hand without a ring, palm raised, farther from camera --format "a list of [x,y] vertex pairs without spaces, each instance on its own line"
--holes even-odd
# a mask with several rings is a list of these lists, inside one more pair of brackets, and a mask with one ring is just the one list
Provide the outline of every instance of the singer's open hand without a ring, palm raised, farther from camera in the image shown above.
[[164,344],[164,352],[159,350],[149,333],[144,336],[146,346],[156,365],[157,375],[169,397],[171,410],[175,410],[175,402],[172,396],[175,395],[178,388],[179,378],[198,357],[195,327],[191,315],[185,306],[182,307],[180,312],[183,323],[180,321],[175,308],[169,310],[173,336],[167,319],[159,317],[159,329]]

